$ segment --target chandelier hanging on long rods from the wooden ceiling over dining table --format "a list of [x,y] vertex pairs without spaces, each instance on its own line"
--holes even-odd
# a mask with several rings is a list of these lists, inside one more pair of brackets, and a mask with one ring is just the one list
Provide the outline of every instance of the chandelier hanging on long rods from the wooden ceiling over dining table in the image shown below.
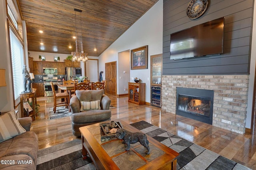
[[80,12],[80,26],[81,26],[81,51],[78,52],[78,48],[77,48],[77,34],[76,34],[76,52],[72,52],[72,61],[88,61],[88,57],[87,57],[87,53],[84,53],[83,50],[83,42],[82,42],[82,10],[78,10],[76,8],[74,8],[75,11],[75,22],[76,22],[76,12]]

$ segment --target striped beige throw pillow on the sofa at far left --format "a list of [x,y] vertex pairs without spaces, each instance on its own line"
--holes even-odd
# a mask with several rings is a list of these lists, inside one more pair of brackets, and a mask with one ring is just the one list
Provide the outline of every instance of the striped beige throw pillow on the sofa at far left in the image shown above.
[[26,130],[16,118],[15,111],[10,111],[0,116],[0,142],[25,132]]

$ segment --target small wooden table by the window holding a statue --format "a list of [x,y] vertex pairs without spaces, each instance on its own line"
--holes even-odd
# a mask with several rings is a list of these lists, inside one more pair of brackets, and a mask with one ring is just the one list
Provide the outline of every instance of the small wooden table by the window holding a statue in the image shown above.
[[24,108],[23,108],[23,99],[32,99],[32,114],[29,115],[29,117],[32,117],[33,120],[36,120],[36,105],[37,105],[37,101],[36,101],[36,89],[32,89],[31,93],[21,93],[20,94],[20,110],[21,110],[21,117],[28,117],[26,115],[26,113],[24,112]]

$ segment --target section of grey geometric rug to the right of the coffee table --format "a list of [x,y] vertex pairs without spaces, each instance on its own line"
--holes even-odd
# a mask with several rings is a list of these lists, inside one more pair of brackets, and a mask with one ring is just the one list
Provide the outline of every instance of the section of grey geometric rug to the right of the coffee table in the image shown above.
[[220,156],[170,132],[166,132],[166,130],[145,121],[130,125],[178,152],[180,155],[177,158],[177,170],[250,170],[246,166]]

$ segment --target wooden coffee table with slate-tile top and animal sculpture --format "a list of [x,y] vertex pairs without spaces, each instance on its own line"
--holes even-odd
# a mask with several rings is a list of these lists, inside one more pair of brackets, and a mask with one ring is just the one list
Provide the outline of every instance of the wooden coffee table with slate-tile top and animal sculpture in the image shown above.
[[[126,130],[139,132],[138,129],[120,119],[114,121],[120,122]],[[149,155],[146,154],[147,149],[139,142],[131,144],[130,150],[126,151],[126,145],[122,144],[122,140],[101,141],[100,123],[80,127],[79,130],[82,134],[82,156],[86,159],[88,153],[99,170],[176,170],[176,158],[179,153],[148,135]]]

